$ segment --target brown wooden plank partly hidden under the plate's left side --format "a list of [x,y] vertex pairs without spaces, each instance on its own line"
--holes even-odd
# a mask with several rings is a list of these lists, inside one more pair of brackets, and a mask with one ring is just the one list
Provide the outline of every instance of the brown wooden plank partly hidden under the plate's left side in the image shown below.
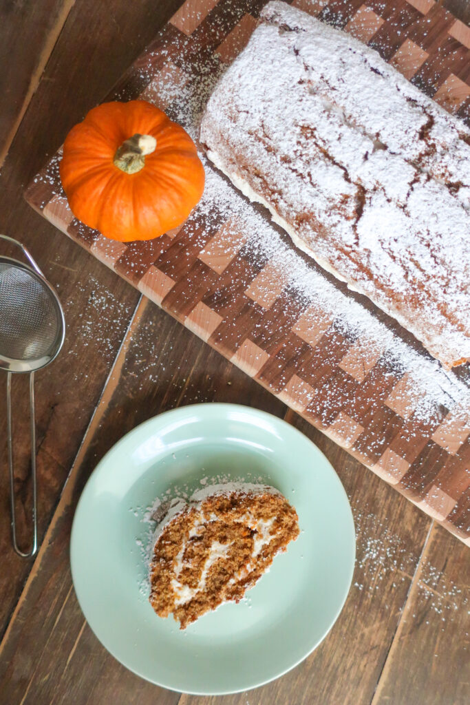
[[83,486],[113,443],[156,413],[204,401],[242,401],[285,413],[283,403],[144,300],[0,647],[1,705],[178,701],[178,694],[125,671],[85,627],[71,584],[68,541]]

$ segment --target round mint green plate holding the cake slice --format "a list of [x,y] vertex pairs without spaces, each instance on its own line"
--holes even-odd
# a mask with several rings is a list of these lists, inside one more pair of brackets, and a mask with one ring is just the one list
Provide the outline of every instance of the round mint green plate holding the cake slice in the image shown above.
[[[168,488],[221,474],[276,486],[301,534],[242,602],[180,631],[156,616],[144,589],[144,513]],[[70,560],[83,613],[118,661],[166,688],[225,694],[278,678],[326,636],[350,588],[354,524],[338,476],[306,436],[249,407],[200,404],[149,419],[99,462],[75,513]]]

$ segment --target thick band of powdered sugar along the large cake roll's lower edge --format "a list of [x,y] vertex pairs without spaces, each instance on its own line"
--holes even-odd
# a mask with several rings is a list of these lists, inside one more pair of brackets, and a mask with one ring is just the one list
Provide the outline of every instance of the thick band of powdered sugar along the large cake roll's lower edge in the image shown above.
[[[454,372],[447,372],[436,360],[418,353],[357,300],[343,294],[320,269],[305,262],[218,172],[206,168],[206,190],[199,213],[209,220],[212,214],[220,217],[220,213],[228,219],[234,212],[243,223],[243,231],[250,233],[245,252],[249,251],[254,259],[275,262],[285,288],[302,298],[306,309],[312,304],[318,305],[334,317],[340,331],[353,340],[361,338],[364,359],[369,350],[380,348],[384,364],[400,374],[411,374],[413,396],[418,399],[414,411],[416,421],[429,421],[440,405],[448,409],[458,407],[459,414],[468,413],[465,409],[470,406],[470,390],[465,381],[459,380]],[[312,317],[314,315],[312,313]]]

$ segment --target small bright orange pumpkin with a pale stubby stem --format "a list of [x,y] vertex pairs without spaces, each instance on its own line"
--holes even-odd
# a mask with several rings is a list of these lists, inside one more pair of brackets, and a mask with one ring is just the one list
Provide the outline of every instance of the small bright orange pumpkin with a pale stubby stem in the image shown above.
[[60,173],[73,214],[121,242],[179,226],[204,190],[190,136],[143,100],[90,110],[66,137]]

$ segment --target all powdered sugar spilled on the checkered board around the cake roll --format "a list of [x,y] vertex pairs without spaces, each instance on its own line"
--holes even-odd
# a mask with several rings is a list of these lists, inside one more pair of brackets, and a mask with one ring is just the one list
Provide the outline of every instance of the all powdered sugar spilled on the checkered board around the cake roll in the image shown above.
[[[159,57],[165,55],[165,49],[158,49]],[[167,75],[171,75],[173,63],[163,66]],[[193,54],[180,69],[184,76],[173,82],[171,79],[161,82],[159,76],[154,79],[152,57],[148,63],[140,66],[136,80],[147,85],[156,80],[158,94],[155,102],[163,107],[168,115],[185,127],[187,132],[197,140],[202,113],[214,89],[216,81],[225,70],[222,63],[211,59],[208,63],[206,54],[201,59]],[[121,99],[128,99],[125,91]],[[151,100],[149,90],[146,99]],[[345,333],[352,343],[361,342],[361,356],[365,367],[370,369],[368,361],[383,363],[395,376],[408,373],[409,382],[407,395],[416,399],[413,419],[416,422],[430,422],[436,417],[442,417],[445,410],[451,410],[464,419],[469,416],[470,409],[470,375],[468,370],[459,369],[456,372],[445,372],[438,362],[426,353],[415,350],[405,342],[390,326],[381,322],[376,314],[361,304],[359,297],[350,295],[344,287],[334,283],[328,275],[316,266],[314,262],[299,253],[287,236],[273,226],[268,216],[261,209],[253,207],[249,201],[228,183],[221,173],[211,166],[204,154],[200,154],[206,168],[206,189],[196,212],[191,216],[186,233],[190,233],[191,224],[197,225],[205,221],[209,226],[217,226],[233,219],[242,223],[240,235],[246,238],[242,254],[245,259],[255,263],[270,262],[278,275],[278,281],[292,295],[304,304],[304,309],[311,305],[321,310],[326,317],[333,319],[333,326]],[[56,164],[53,165],[54,171]],[[50,179],[51,175],[45,177]],[[206,239],[194,227],[193,243],[200,238],[201,252],[204,252]],[[232,245],[228,244],[228,251]],[[235,291],[236,282],[234,282]],[[269,294],[269,291],[266,291]],[[315,314],[312,313],[312,316]],[[378,355],[377,355],[378,351]],[[146,355],[142,364],[151,364],[151,355]],[[411,390],[411,391],[410,391]]]

